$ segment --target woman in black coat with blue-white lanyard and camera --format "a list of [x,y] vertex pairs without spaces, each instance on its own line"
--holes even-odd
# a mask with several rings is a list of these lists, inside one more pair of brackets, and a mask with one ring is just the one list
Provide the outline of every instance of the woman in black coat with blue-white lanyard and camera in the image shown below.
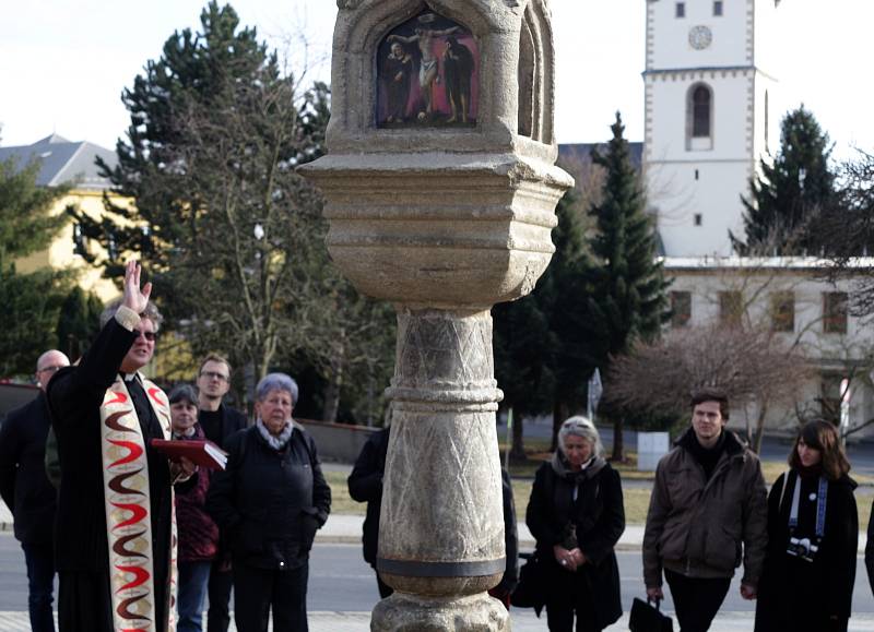
[[831,424],[802,427],[768,497],[768,551],[756,632],[846,632],[859,518],[850,464]]

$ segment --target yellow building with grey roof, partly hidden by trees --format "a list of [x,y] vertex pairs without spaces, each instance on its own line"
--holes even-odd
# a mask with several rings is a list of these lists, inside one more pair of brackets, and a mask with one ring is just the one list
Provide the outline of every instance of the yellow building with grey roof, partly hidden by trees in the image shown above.
[[[32,145],[0,147],[0,160],[11,157],[22,167],[31,160],[38,160],[40,170],[36,183],[40,187],[72,187],[67,195],[55,203],[52,214],[63,213],[72,204],[92,217],[102,215],[103,196],[109,192],[110,182],[99,175],[95,160],[101,157],[107,165],[115,166],[118,163],[115,152],[87,141],[71,142],[51,134]],[[123,200],[111,192],[108,194],[116,196],[117,203]],[[101,270],[76,254],[73,240],[75,228],[71,219],[46,250],[16,261],[19,272],[46,267],[73,271],[82,289],[95,293],[101,300],[107,301],[118,296],[115,284],[102,278]]]

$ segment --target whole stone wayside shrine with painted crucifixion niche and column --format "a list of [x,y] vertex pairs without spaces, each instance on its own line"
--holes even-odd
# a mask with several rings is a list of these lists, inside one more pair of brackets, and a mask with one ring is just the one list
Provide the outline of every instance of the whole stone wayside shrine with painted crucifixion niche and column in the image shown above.
[[546,0],[338,0],[323,191],[328,249],[398,310],[371,630],[509,630],[492,317],[550,263]]

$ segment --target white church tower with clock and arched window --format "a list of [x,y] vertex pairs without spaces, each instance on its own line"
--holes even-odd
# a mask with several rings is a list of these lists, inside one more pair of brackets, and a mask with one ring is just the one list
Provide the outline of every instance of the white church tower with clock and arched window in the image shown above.
[[646,2],[650,210],[666,255],[728,255],[741,195],[780,140],[768,72],[780,0]]

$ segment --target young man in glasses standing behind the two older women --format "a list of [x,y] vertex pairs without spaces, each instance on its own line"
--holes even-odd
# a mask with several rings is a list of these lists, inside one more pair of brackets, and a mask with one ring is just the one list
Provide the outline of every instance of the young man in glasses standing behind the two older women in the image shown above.
[[[246,416],[225,405],[223,400],[231,390],[231,363],[215,354],[210,354],[200,363],[198,373],[198,422],[206,439],[225,448],[227,439],[246,428]],[[234,576],[231,572],[231,551],[225,538],[218,541],[218,551],[210,570],[206,632],[227,632],[231,623],[228,601]]]

